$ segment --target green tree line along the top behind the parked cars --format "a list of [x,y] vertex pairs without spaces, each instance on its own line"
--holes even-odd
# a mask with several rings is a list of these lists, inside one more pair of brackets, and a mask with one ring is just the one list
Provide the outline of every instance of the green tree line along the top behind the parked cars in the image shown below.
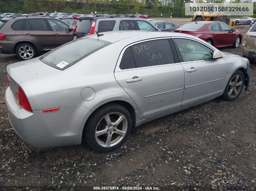
[[[228,0],[229,1],[229,0]],[[1,0],[0,12],[66,12],[88,14],[148,14],[151,17],[185,16],[185,3],[224,3],[224,0]],[[252,0],[230,0],[252,3]],[[256,10],[256,3],[254,7]],[[162,16],[161,16],[162,14]]]

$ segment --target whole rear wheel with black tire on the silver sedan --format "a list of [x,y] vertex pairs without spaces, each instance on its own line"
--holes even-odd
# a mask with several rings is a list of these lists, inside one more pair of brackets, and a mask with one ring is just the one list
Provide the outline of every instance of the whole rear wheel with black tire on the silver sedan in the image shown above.
[[[115,126],[114,123],[121,117],[122,121]],[[107,125],[108,120],[111,126]],[[131,126],[132,118],[129,111],[119,104],[111,103],[92,113],[85,124],[83,138],[93,150],[110,152],[121,147],[131,132]],[[97,132],[101,134],[97,135]]]

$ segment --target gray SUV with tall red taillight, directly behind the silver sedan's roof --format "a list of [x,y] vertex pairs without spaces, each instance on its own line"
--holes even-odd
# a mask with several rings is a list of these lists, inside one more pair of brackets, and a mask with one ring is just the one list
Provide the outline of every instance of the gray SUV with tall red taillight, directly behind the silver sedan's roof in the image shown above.
[[147,19],[135,17],[84,17],[79,20],[73,31],[73,40],[98,33],[115,30],[161,31]]

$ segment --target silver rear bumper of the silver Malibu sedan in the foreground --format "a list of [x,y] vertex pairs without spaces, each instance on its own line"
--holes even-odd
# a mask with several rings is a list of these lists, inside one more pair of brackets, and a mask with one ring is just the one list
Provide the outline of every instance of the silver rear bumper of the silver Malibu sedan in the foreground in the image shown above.
[[60,107],[59,111],[50,113],[29,112],[18,105],[9,87],[5,91],[5,103],[17,135],[40,148],[81,144],[85,121],[92,113],[81,105]]

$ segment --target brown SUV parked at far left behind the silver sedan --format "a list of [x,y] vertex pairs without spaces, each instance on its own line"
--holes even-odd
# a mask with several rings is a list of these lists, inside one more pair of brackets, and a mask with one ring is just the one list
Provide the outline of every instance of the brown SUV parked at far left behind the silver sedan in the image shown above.
[[73,27],[49,16],[0,19],[0,53],[21,60],[35,57],[72,40]]

